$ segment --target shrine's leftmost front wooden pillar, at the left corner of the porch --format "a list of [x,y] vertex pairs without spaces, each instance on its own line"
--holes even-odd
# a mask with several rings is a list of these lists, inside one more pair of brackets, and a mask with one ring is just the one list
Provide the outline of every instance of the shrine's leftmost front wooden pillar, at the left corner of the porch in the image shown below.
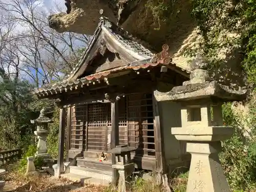
[[58,151],[58,162],[57,162],[57,177],[64,172],[64,143],[65,143],[65,108],[60,107],[59,110],[59,151]]

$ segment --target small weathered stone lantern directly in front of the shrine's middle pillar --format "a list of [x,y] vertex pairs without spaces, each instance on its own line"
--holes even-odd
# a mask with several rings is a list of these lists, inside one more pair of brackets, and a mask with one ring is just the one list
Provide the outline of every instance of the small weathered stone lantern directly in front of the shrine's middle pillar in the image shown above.
[[131,179],[130,175],[134,171],[134,163],[131,160],[131,152],[136,149],[128,145],[118,145],[109,151],[116,156],[116,164],[112,165],[114,169],[118,170],[118,191],[130,191]]

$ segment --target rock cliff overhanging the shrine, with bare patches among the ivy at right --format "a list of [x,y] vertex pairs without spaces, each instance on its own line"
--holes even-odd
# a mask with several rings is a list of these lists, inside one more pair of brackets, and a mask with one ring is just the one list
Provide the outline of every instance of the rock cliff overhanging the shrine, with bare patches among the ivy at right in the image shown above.
[[[155,0],[66,0],[67,13],[50,15],[49,26],[60,33],[71,31],[92,35],[98,26],[102,9],[105,17],[133,36],[146,41],[156,51],[161,51],[163,44],[169,45],[173,63],[190,71],[189,62],[192,58],[185,56],[184,52],[196,47],[200,50],[199,42],[202,40],[197,22],[191,16],[191,1],[162,2],[164,4],[161,5],[161,1]],[[218,22],[217,18],[213,21]],[[231,37],[236,38],[239,34],[229,36],[231,40]],[[225,42],[221,38],[219,41]],[[234,89],[244,86],[241,56],[238,54],[240,48],[220,48],[218,57],[222,59],[221,65],[214,70],[213,75],[220,83]]]

